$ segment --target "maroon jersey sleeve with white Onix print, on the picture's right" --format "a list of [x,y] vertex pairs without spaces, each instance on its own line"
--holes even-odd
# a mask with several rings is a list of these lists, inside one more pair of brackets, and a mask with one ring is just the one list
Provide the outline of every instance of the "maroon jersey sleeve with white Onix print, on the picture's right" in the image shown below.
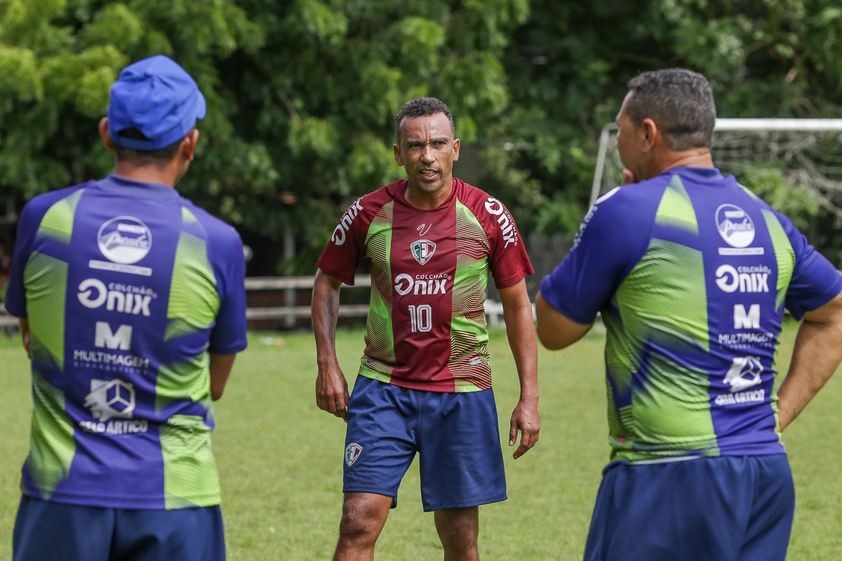
[[[493,197],[483,204],[486,234],[488,235],[489,262],[494,286],[506,288],[520,283],[526,275],[535,273],[524,241],[520,239],[514,217],[503,203]],[[487,214],[486,214],[487,213]]]

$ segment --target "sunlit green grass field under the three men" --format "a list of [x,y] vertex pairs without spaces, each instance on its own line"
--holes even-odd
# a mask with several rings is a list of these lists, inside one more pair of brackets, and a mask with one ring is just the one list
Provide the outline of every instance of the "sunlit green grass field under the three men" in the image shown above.
[[[353,381],[361,331],[340,331],[340,362]],[[787,325],[781,364],[795,326]],[[217,405],[219,463],[229,558],[329,559],[342,501],[344,423],[313,397],[315,347],[309,333],[253,335]],[[263,339],[263,341],[261,341]],[[593,334],[572,349],[541,351],[541,442],[514,462],[506,450],[509,500],[480,509],[486,561],[581,559],[600,469],[608,458],[602,351]],[[517,376],[504,331],[492,334],[500,429],[508,433]],[[0,337],[0,541],[11,548],[19,469],[29,442],[28,363],[17,341]],[[842,559],[842,377],[837,374],[786,432],[797,487],[789,558]],[[507,447],[508,448],[508,447]],[[441,559],[433,516],[421,510],[418,468],[400,490],[378,560]],[[6,557],[6,553],[0,553]]]

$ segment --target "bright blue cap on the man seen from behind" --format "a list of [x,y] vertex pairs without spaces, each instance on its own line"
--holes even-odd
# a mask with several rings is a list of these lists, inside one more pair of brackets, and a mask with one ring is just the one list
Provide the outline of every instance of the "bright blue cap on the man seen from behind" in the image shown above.
[[[207,104],[187,71],[168,56],[152,56],[126,66],[111,86],[108,128],[116,146],[155,151],[187,136]],[[121,136],[136,129],[147,140]],[[136,136],[136,135],[133,135]]]

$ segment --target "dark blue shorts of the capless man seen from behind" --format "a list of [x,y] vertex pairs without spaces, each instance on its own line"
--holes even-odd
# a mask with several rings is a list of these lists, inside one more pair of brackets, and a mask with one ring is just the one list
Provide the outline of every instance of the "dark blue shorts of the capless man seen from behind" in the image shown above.
[[585,561],[783,561],[795,511],[786,454],[609,466]]

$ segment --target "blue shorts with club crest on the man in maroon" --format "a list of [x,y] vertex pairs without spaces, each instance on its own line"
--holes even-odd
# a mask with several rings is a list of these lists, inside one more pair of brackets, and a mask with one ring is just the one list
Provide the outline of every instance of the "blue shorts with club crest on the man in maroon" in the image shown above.
[[357,377],[348,404],[344,492],[394,497],[420,455],[424,511],[506,500],[491,389],[452,394]]

